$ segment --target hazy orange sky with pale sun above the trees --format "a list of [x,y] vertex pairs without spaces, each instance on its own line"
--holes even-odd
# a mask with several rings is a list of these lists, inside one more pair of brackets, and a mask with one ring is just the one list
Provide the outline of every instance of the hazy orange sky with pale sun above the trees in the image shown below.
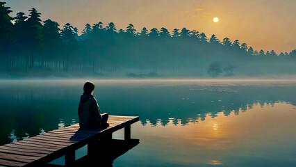
[[[28,15],[36,8],[41,19],[67,22],[81,32],[85,24],[114,22],[117,30],[133,24],[137,31],[165,27],[197,30],[208,38],[230,38],[256,50],[277,53],[296,49],[295,0],[0,0]],[[218,17],[219,22],[213,22]]]

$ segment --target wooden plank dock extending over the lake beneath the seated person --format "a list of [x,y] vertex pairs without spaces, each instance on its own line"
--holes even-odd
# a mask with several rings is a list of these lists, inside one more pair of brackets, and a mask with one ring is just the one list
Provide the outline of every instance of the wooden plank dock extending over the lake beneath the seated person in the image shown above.
[[109,127],[83,130],[79,124],[55,129],[31,138],[0,146],[1,166],[46,166],[65,156],[65,166],[74,166],[75,151],[88,145],[88,155],[96,154],[97,145],[112,139],[113,132],[124,128],[124,141],[131,140],[131,125],[138,116],[109,116]]

